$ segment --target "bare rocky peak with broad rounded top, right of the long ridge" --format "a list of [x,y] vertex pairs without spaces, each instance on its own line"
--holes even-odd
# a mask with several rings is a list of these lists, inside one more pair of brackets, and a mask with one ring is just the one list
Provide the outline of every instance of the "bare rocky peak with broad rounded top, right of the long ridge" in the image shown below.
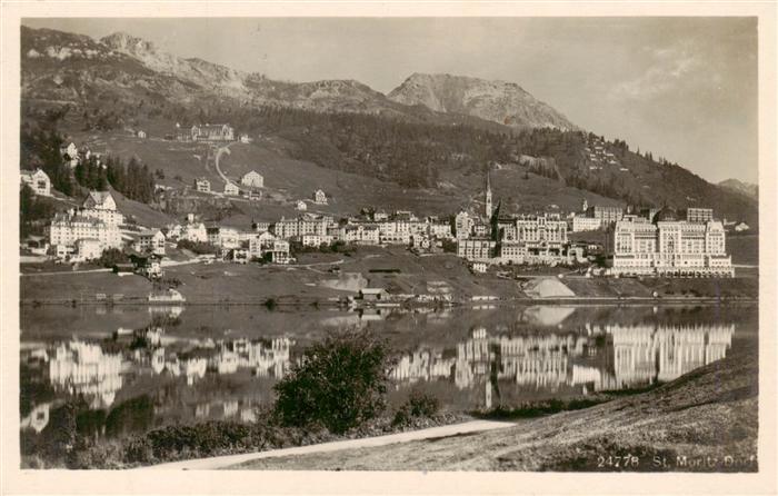
[[413,73],[389,93],[389,99],[423,105],[439,112],[466,113],[515,128],[578,129],[560,112],[512,82]]

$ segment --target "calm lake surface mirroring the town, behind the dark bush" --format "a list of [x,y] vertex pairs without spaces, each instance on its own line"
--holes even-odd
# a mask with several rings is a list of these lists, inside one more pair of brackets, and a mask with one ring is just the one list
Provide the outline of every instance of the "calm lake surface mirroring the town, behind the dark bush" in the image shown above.
[[[201,419],[249,421],[272,403],[272,386],[302,349],[343,326],[373,328],[396,350],[390,404],[412,388],[459,411],[579,397],[669,381],[721,359],[738,337],[756,339],[758,314],[756,307],[232,310],[22,309],[22,429],[42,431],[74,399],[107,435]],[[89,324],[80,333],[49,328],[73,318]],[[230,327],[218,327],[220,320]],[[141,325],[128,326],[133,321]]]

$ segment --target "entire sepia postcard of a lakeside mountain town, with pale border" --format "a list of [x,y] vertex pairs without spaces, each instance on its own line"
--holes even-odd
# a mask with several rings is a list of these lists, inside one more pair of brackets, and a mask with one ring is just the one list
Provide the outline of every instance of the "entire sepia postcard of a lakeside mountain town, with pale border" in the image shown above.
[[49,12],[12,468],[775,469],[758,16]]

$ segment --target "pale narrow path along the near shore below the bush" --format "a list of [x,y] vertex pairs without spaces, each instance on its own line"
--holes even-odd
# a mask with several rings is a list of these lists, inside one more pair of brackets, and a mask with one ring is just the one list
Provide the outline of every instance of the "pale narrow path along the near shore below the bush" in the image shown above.
[[362,439],[337,440],[310,446],[298,446],[295,448],[271,449],[261,453],[247,453],[243,455],[216,456],[211,458],[196,458],[169,464],[151,465],[140,467],[138,470],[215,470],[229,468],[263,458],[278,458],[291,455],[309,455],[312,453],[338,452],[341,449],[369,448],[376,446],[387,446],[398,443],[409,443],[419,439],[431,439],[457,436],[467,433],[480,433],[483,430],[503,429],[513,427],[516,424],[509,421],[493,420],[471,420],[462,424],[452,424],[429,429],[412,430],[409,433],[389,434],[386,436],[366,437]]

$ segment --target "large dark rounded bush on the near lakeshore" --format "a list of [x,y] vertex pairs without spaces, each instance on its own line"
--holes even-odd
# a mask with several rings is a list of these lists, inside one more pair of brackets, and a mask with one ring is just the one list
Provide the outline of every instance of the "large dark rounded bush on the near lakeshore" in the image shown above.
[[275,386],[275,415],[285,426],[342,434],[383,410],[390,365],[386,344],[369,331],[331,334]]

